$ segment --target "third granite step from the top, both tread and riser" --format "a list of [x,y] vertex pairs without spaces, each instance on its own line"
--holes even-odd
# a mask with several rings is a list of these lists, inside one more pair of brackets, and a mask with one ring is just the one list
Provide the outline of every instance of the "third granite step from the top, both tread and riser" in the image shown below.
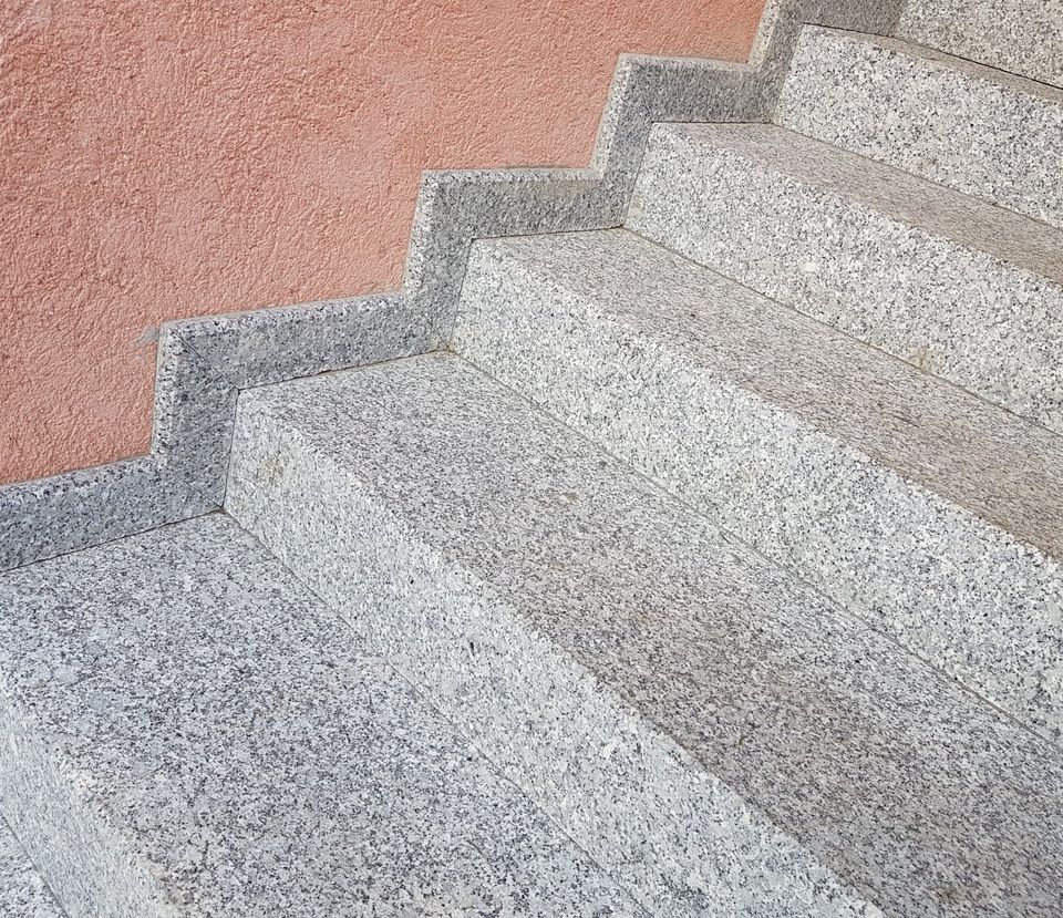
[[772,125],[658,125],[628,227],[1063,431],[1063,233]]

